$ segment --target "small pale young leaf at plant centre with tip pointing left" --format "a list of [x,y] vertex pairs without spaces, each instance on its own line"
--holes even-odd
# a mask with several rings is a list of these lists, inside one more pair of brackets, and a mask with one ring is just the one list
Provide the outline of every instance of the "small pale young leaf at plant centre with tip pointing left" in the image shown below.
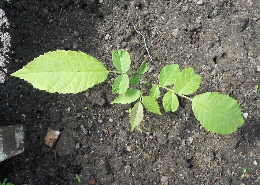
[[128,89],[125,93],[119,94],[110,104],[121,103],[127,104],[136,101],[140,97],[141,91],[137,89]]

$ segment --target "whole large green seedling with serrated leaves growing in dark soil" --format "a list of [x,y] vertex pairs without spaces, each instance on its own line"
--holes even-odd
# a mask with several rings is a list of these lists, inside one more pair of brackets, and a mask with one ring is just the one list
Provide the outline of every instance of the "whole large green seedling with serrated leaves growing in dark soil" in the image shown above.
[[[58,50],[40,55],[11,76],[27,80],[39,90],[75,94],[104,82],[109,73],[119,74],[111,88],[112,93],[118,96],[111,104],[129,104],[138,100],[129,114],[132,131],[143,120],[143,106],[162,115],[157,102],[162,94],[160,89],[167,91],[162,98],[165,112],[175,112],[179,98],[186,98],[192,102],[195,117],[208,131],[229,134],[244,123],[237,100],[228,95],[206,92],[193,98],[187,96],[196,92],[201,82],[199,74],[191,67],[180,71],[178,64],[166,65],[158,76],[159,83],[153,84],[144,75],[146,62],[142,62],[137,71],[129,71],[131,59],[124,50],[114,50],[112,60],[117,71],[106,69],[97,59],[83,52]],[[141,77],[144,82],[141,88],[133,89]],[[129,88],[129,85],[133,87]],[[146,87],[150,87],[149,94],[144,94]]]

